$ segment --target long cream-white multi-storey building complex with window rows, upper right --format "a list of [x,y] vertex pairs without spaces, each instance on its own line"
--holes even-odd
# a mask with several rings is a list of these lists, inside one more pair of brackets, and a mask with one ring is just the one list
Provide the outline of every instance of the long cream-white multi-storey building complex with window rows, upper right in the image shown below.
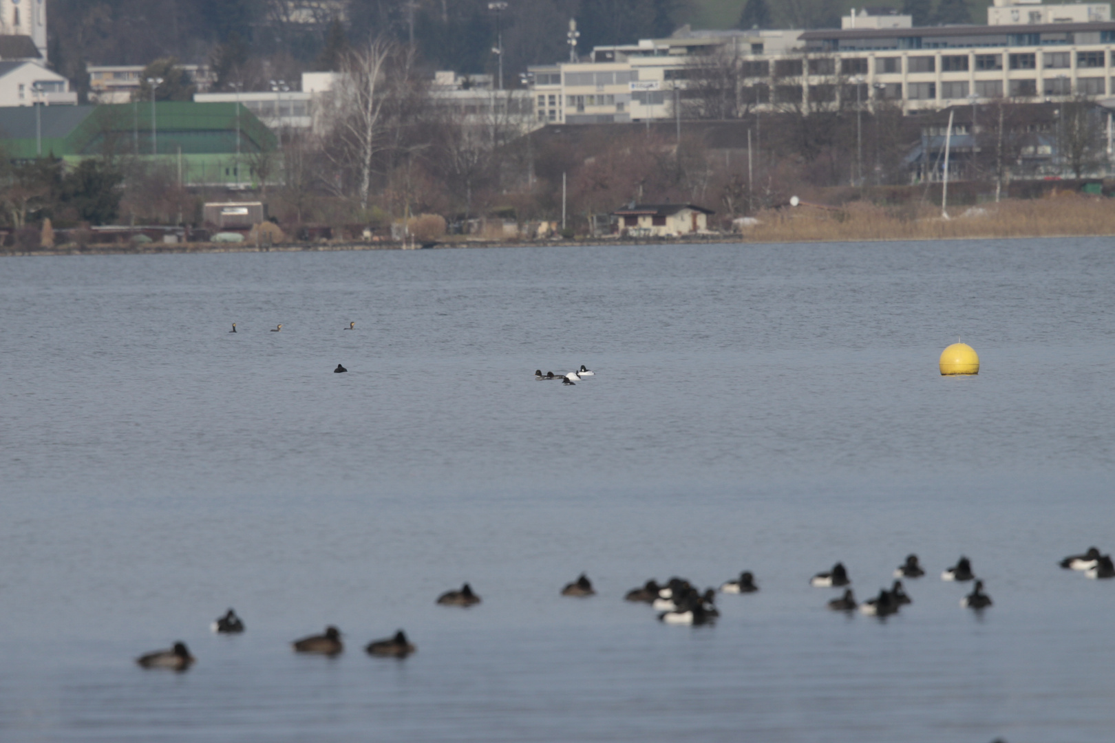
[[[1097,3],[1098,4],[1098,3]],[[638,45],[599,47],[585,61],[530,68],[535,116],[546,124],[668,119],[685,100],[695,66],[730,59],[740,97],[758,110],[823,107],[859,94],[900,104],[905,113],[1002,97],[1115,96],[1115,22],[1090,4],[1040,6],[997,0],[991,11],[1021,7],[1041,19],[1102,20],[914,28],[909,16],[853,11],[841,29],[690,31]],[[1020,11],[1021,12],[1021,11]],[[1008,16],[1009,17],[1009,16]],[[998,17],[996,17],[998,18]]]

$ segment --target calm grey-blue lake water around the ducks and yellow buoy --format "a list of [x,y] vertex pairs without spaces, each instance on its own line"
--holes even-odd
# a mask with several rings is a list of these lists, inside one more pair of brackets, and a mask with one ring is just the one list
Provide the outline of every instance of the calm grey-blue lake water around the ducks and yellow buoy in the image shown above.
[[[0,739],[1115,740],[1115,581],[1056,565],[1115,548],[1113,255],[2,260]],[[978,377],[938,373],[958,338]],[[908,553],[885,622],[807,585],[843,560],[863,599]],[[621,600],[743,569],[711,627]],[[291,652],[326,624],[341,657]],[[400,627],[414,656],[362,652]],[[178,639],[188,673],[135,666]]]

